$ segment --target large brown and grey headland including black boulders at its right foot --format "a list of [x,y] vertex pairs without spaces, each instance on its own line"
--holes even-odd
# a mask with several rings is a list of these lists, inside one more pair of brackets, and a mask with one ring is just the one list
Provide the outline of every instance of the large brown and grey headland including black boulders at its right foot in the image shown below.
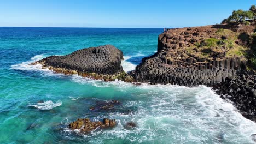
[[[243,116],[256,121],[256,75],[248,67],[248,53],[256,50],[256,39],[253,31],[238,30],[232,31],[230,25],[171,29],[159,35],[158,52],[143,58],[129,74],[135,82],[152,85],[212,87]],[[218,41],[228,39],[232,49],[224,55]]]

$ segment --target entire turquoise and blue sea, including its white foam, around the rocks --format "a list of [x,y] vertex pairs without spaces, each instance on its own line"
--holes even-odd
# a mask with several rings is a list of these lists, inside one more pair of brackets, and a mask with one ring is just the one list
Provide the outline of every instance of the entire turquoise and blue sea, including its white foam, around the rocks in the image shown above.
[[[28,65],[50,55],[112,44],[123,51],[122,65],[129,71],[155,53],[161,31],[0,28],[0,143],[253,143],[256,124],[205,86],[136,86]],[[121,104],[109,111],[89,110],[109,100]],[[118,123],[89,134],[68,129],[68,123],[85,117]],[[127,128],[127,122],[137,127]]]

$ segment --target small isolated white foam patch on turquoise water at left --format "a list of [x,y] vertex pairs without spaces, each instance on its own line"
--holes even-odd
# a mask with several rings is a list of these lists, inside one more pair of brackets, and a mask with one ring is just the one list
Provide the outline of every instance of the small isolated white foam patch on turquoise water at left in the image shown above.
[[53,103],[53,101],[48,100],[48,101],[44,101],[43,103],[37,103],[35,105],[28,105],[28,106],[36,107],[39,110],[51,110],[54,107],[61,106],[61,105],[62,103],[60,100],[57,101],[56,103]]

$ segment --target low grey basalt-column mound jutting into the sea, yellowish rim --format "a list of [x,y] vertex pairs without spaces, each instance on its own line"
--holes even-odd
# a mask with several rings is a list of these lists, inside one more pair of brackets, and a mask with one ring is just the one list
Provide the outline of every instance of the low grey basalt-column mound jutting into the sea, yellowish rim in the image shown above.
[[32,64],[42,64],[56,73],[79,74],[93,79],[132,82],[121,66],[123,52],[112,45],[89,47],[66,56],[50,56]]

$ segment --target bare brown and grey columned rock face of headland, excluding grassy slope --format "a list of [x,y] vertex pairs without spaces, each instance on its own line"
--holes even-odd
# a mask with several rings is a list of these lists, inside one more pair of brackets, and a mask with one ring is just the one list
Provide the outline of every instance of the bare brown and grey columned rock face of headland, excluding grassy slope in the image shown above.
[[130,75],[136,82],[152,84],[197,86],[225,82],[227,77],[245,68],[245,61],[240,57],[224,57],[221,53],[202,57],[195,46],[209,38],[221,39],[217,31],[214,26],[204,26],[171,29],[160,34],[158,52],[144,58]]

